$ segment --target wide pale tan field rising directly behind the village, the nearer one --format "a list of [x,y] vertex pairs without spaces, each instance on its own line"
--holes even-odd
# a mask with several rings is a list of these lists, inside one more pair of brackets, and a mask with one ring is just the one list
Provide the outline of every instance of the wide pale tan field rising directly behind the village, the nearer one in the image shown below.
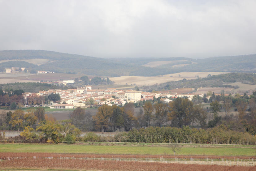
[[[121,77],[113,77],[110,78],[111,81],[115,81],[115,84],[128,84],[133,85],[136,84],[137,86],[143,85],[153,85],[153,84],[160,84],[166,83],[168,81],[179,81],[184,79],[185,77],[161,77],[161,76],[152,76],[152,77],[143,77],[143,76],[121,76]],[[194,78],[185,78],[185,79],[194,79]]]

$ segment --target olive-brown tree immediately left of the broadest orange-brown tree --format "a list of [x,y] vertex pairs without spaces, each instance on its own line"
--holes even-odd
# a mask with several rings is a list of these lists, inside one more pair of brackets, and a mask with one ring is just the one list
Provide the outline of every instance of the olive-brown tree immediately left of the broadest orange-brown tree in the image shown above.
[[161,126],[167,119],[168,106],[165,103],[156,103],[154,104],[154,109],[156,124]]

